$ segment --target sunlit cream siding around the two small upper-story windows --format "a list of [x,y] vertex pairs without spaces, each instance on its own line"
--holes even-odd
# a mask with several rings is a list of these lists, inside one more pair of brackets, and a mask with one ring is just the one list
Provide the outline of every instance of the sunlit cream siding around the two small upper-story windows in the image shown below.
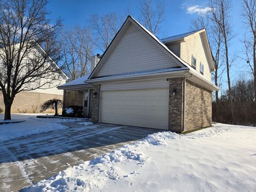
[[204,47],[203,37],[199,33],[189,35],[184,38],[185,42],[180,44],[180,58],[191,65],[192,55],[196,58],[196,70],[200,73],[200,62],[204,65],[204,77],[211,81],[211,72],[209,61],[206,57],[206,48]]

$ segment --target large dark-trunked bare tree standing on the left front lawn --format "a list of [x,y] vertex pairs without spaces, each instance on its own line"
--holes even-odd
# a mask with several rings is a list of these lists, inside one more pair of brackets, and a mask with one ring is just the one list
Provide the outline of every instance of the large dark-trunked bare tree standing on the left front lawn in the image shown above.
[[11,119],[17,93],[50,88],[60,77],[61,71],[53,60],[60,59],[56,34],[61,21],[53,24],[46,19],[46,4],[46,0],[0,2],[0,91],[4,119]]

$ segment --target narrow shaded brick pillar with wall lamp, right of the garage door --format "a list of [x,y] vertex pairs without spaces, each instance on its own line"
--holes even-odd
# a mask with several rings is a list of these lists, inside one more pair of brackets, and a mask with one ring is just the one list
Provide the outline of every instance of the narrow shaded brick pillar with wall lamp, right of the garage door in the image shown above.
[[[182,132],[183,119],[183,82],[184,78],[170,78],[169,89],[169,130],[172,132]],[[177,92],[173,95],[173,89]]]

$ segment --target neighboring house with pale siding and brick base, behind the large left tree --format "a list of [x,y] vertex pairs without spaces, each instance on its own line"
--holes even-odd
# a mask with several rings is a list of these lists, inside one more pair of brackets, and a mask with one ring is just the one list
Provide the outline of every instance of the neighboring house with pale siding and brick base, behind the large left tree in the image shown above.
[[[34,43],[34,42],[33,42]],[[33,54],[34,53],[34,54]],[[46,54],[45,51],[42,49],[42,47],[35,43],[33,49],[30,48],[28,51],[25,59],[27,58],[33,58],[33,55],[36,55],[39,57],[39,55]],[[43,57],[42,57],[43,58]],[[21,91],[17,95],[15,95],[11,113],[39,113],[41,111],[40,106],[43,102],[50,100],[50,99],[61,99],[63,98],[63,91],[58,90],[57,86],[61,85],[63,83],[66,83],[68,76],[62,71],[59,70],[59,66],[57,63],[55,63],[50,57],[47,59],[49,61],[44,62],[44,65],[51,65],[53,68],[56,68],[56,71],[58,71],[57,74],[55,74],[55,81],[52,81],[50,77],[50,80],[45,78],[39,78],[34,82],[31,82],[29,85],[26,84],[26,86],[29,87],[37,87],[38,84],[44,84],[45,82],[52,82],[50,85],[47,84],[45,86],[42,86],[41,89],[35,89],[31,91]],[[26,69],[23,69],[23,74],[27,73]],[[20,73],[20,74],[22,74]],[[0,74],[1,75],[1,74]],[[4,98],[3,93],[0,91],[0,113],[4,112],[5,106],[4,106]],[[54,109],[47,110],[47,113],[54,113]],[[61,109],[59,111],[61,113]]]

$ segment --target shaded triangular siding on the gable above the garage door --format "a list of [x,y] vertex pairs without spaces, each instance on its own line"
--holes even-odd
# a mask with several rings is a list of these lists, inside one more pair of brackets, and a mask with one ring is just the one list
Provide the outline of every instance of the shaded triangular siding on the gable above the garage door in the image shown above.
[[130,25],[99,70],[99,76],[150,69],[178,67],[177,62],[159,49],[153,38]]

